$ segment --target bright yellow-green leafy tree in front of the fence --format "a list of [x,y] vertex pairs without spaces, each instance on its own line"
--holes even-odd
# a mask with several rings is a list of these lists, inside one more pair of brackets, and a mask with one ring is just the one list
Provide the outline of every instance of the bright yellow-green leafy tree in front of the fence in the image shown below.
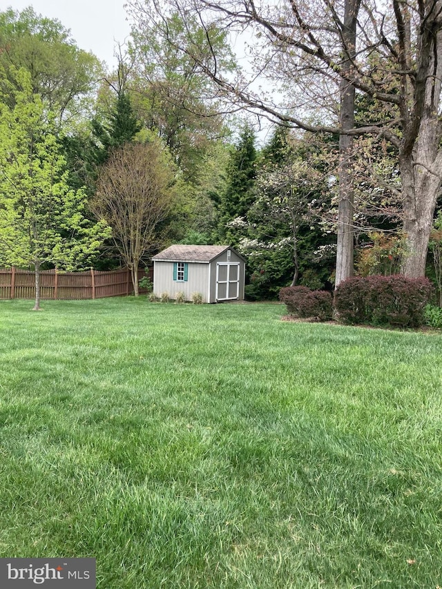
[[68,186],[54,115],[23,68],[14,86],[14,105],[0,102],[0,263],[34,267],[37,311],[42,264],[81,267],[110,231],[85,218],[86,193]]

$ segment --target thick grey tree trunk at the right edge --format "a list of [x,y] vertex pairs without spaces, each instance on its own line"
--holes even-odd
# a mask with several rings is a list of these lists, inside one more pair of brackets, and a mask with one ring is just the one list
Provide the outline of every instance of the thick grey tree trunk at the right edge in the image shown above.
[[[441,1],[428,4],[421,26],[421,52],[414,88],[414,113],[403,108],[403,144],[399,154],[403,193],[403,231],[407,251],[401,271],[407,278],[425,276],[434,209],[441,189],[442,151],[439,120],[442,79]],[[425,3],[423,6],[426,6]]]

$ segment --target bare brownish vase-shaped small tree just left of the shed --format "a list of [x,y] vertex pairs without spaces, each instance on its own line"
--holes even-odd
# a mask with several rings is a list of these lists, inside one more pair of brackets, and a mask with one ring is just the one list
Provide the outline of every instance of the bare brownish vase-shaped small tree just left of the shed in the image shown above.
[[112,228],[115,247],[131,270],[138,296],[138,267],[157,249],[173,204],[175,169],[159,142],[126,143],[99,172],[91,208]]

